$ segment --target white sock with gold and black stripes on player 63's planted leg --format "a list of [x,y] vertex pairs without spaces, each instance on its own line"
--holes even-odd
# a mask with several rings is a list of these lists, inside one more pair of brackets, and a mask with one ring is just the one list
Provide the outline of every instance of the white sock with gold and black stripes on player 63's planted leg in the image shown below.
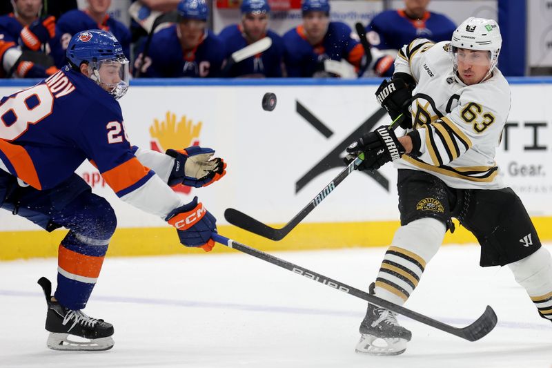
[[426,263],[441,246],[446,226],[425,217],[401,226],[385,253],[375,282],[375,295],[402,305],[417,287]]

